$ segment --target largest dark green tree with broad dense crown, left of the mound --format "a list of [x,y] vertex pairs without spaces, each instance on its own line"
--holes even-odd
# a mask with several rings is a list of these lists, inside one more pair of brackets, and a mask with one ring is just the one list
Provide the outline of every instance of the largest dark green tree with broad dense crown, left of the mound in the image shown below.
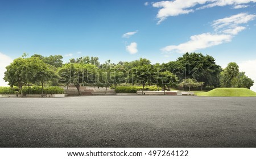
[[205,82],[205,85],[220,85],[221,66],[216,65],[212,56],[201,53],[185,53],[176,61],[163,64],[164,69],[176,74],[179,79],[195,78]]

